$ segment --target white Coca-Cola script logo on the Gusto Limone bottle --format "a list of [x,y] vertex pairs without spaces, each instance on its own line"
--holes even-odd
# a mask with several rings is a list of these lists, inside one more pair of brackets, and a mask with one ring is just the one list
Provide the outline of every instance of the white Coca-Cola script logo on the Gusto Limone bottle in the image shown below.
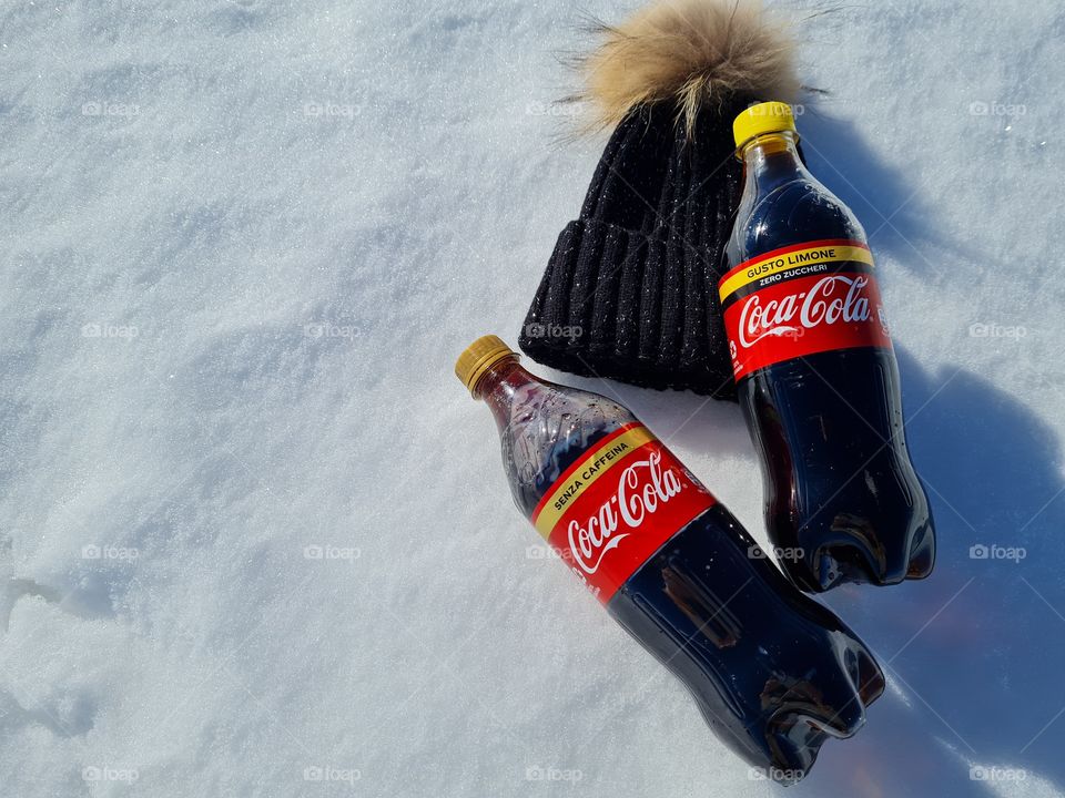
[[866,275],[829,275],[809,291],[770,299],[764,305],[755,294],[740,314],[740,346],[747,349],[769,337],[795,338],[821,325],[864,323],[870,317],[869,297],[863,295],[869,284]]

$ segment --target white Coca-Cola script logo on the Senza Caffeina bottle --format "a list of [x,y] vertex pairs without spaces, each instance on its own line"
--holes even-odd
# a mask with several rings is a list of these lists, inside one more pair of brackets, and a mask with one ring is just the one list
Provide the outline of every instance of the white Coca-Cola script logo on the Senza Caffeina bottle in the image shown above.
[[[581,571],[596,573],[610,551],[680,493],[680,474],[676,469],[663,469],[661,461],[661,452],[652,451],[646,460],[628,466],[613,495],[595,514],[582,524],[576,519],[569,522],[569,549]],[[619,530],[625,531],[618,534]]]

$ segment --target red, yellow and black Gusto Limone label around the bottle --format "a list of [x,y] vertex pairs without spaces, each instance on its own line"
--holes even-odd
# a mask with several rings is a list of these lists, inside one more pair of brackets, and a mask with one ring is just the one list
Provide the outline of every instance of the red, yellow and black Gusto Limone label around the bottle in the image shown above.
[[873,256],[861,242],[773,249],[730,270],[718,294],[737,381],[815,352],[891,348]]

